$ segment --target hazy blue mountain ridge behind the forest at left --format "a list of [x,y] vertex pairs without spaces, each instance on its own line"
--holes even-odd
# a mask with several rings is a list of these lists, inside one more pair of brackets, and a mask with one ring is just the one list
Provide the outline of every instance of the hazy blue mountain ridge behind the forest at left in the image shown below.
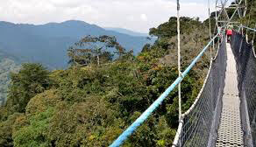
[[135,37],[107,31],[97,25],[70,20],[46,25],[0,22],[0,50],[26,61],[40,62],[50,68],[67,66],[67,49],[86,35],[115,36],[127,50],[137,54],[148,43],[146,37]]

